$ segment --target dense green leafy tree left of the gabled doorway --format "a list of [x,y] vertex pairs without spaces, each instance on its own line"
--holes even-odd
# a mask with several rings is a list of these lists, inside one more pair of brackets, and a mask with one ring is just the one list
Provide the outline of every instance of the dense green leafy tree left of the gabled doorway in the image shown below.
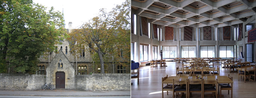
[[[0,47],[2,60],[10,59],[9,67],[20,73],[35,73],[38,57],[55,50],[54,44],[64,38],[64,23],[53,7],[46,12],[32,0],[3,0],[0,9]],[[8,58],[7,58],[8,57]]]

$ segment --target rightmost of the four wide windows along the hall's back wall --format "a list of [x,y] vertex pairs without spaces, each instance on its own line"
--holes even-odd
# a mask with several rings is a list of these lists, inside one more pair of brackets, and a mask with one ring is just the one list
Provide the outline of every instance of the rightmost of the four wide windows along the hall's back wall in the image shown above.
[[219,46],[219,57],[234,57],[234,46]]

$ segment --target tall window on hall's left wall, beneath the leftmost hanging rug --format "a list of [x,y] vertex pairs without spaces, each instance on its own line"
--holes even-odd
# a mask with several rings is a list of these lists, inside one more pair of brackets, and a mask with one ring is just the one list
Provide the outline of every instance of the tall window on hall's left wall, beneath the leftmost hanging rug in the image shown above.
[[148,60],[148,45],[140,44],[140,61]]

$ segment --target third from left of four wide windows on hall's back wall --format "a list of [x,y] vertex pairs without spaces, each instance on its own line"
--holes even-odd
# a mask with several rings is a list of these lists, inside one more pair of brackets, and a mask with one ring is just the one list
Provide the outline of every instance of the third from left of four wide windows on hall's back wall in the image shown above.
[[200,46],[200,57],[215,57],[215,46]]

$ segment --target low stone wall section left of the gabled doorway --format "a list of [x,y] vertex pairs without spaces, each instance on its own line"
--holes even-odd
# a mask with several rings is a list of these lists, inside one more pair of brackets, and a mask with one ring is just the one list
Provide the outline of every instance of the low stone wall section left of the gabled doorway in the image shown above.
[[38,90],[46,83],[45,75],[0,74],[1,90]]

